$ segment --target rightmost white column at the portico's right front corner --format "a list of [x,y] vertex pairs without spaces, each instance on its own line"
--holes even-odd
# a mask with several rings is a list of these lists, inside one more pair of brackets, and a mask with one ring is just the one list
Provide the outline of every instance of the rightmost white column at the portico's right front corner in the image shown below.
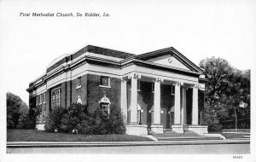
[[192,124],[198,125],[198,84],[193,87]]

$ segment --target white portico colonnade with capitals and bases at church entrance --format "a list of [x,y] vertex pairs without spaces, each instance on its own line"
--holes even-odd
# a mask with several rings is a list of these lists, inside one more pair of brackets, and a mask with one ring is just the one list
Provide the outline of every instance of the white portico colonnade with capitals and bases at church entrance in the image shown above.
[[[128,99],[127,95],[127,83],[131,82],[131,104],[128,107]],[[142,90],[138,90],[138,84],[142,84],[142,82],[148,82],[153,84],[154,90],[154,101],[153,107],[151,108],[151,124],[148,128],[148,125],[141,124],[138,121],[138,107],[141,107],[138,104],[138,93],[141,93]],[[147,75],[143,75],[139,72],[133,72],[131,75],[125,76],[122,78],[121,84],[121,103],[122,103],[122,112],[124,114],[126,130],[128,134],[147,134],[148,130],[150,129],[154,133],[163,133],[164,126],[161,124],[161,85],[167,84],[171,85],[175,89],[174,93],[174,124],[170,125],[173,131],[177,133],[183,133],[184,130],[193,130],[199,134],[201,134],[202,128],[198,125],[198,89],[199,83],[198,82],[180,82],[175,79],[165,79],[161,76],[156,76],[154,78],[149,78]],[[192,89],[192,120],[191,124],[187,124],[187,101],[186,101],[186,92],[188,89]],[[170,94],[172,92],[170,91]],[[170,100],[172,100],[170,98]],[[147,111],[143,111],[143,113]],[[130,113],[130,120],[127,118],[128,113]],[[197,129],[197,130],[196,130]],[[198,131],[198,129],[200,131]],[[202,132],[207,133],[207,130],[203,130]]]

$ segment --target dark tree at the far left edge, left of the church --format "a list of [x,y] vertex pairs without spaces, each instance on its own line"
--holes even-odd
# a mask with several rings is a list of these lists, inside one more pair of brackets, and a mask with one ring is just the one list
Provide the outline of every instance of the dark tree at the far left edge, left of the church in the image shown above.
[[28,112],[28,107],[18,95],[8,92],[7,99],[7,128],[15,129],[19,123],[19,119]]

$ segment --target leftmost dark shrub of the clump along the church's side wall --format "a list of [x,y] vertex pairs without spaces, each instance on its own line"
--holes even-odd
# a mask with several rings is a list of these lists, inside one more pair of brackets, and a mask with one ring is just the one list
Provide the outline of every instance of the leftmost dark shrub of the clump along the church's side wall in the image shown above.
[[46,118],[45,130],[49,132],[61,130],[61,119],[65,113],[67,113],[66,108],[54,107],[52,112],[49,113],[49,117]]

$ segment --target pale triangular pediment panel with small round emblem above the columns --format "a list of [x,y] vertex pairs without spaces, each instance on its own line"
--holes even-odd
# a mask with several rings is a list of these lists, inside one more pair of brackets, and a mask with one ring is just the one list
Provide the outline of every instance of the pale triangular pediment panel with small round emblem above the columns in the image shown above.
[[160,55],[151,59],[148,59],[147,61],[154,62],[160,65],[164,66],[170,66],[170,67],[177,67],[177,68],[182,68],[185,70],[189,70],[188,67],[186,67],[183,62],[178,61],[176,57],[173,55]]

